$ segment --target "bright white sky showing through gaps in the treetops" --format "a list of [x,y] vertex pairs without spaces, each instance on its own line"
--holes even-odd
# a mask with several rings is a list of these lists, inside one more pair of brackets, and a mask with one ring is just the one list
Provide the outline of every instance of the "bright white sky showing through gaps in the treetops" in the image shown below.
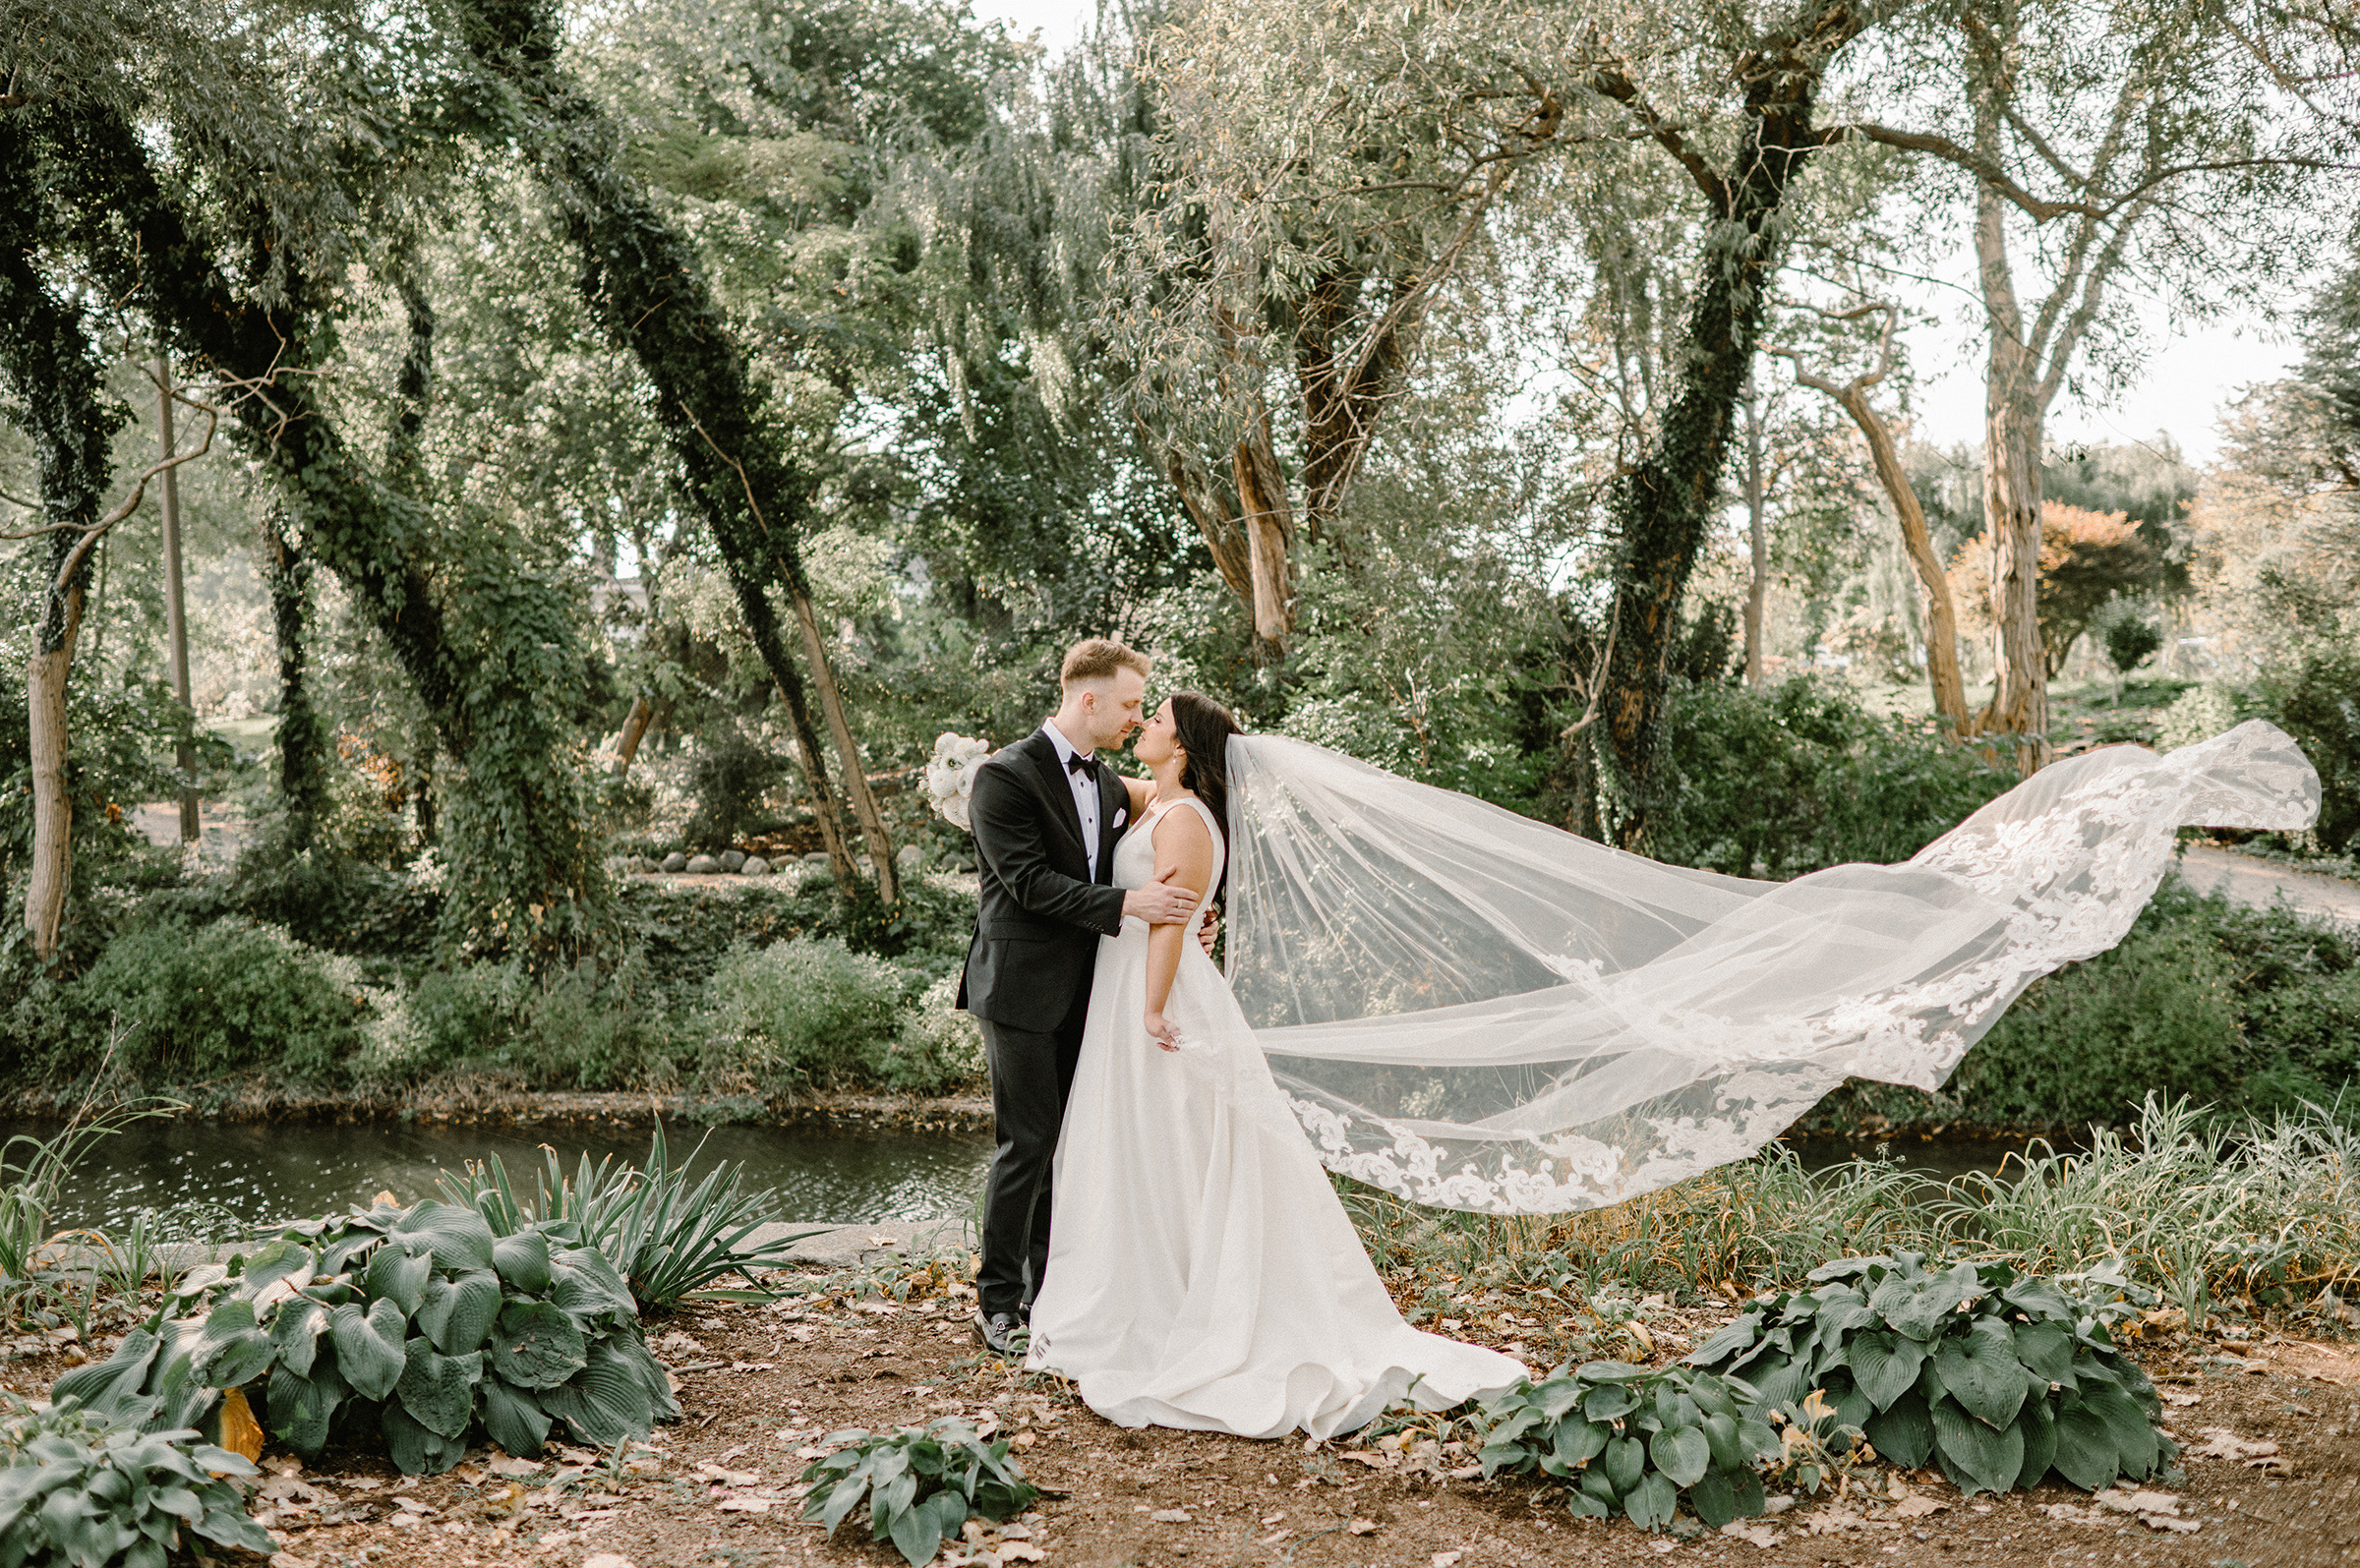
[[[1036,31],[1055,54],[1095,14],[1095,0],[975,0],[975,9],[1008,21],[1017,33]],[[1959,262],[1959,276],[1973,276],[1964,255]],[[1945,309],[1945,316],[1952,314],[1956,311]],[[2169,434],[2202,467],[2218,453],[2216,422],[2223,403],[2254,382],[2284,375],[2301,356],[2282,335],[2249,318],[2174,328],[2162,311],[2152,311],[2150,330],[2159,349],[2112,401],[2079,401],[2072,391],[2058,396],[2048,415],[2051,443],[2129,443]],[[1940,446],[1980,441],[1982,361],[1968,325],[1919,325],[1909,349],[1919,373],[1912,394],[1916,431]]]

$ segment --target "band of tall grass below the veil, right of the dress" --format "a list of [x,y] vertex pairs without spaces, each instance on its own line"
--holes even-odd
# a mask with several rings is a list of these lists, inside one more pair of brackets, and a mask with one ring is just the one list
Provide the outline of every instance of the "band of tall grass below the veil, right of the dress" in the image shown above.
[[[1938,1184],[1888,1153],[1820,1172],[1772,1146],[1607,1210],[1418,1210],[1345,1184],[1388,1269],[1473,1287],[1744,1294],[1798,1287],[1838,1257],[1916,1252],[2025,1276],[2105,1269],[2190,1325],[2360,1283],[2360,1127],[2343,1106],[2223,1118],[2150,1094],[2084,1151],[2034,1141],[1997,1172]],[[1444,1292],[1451,1294],[1451,1292]]]

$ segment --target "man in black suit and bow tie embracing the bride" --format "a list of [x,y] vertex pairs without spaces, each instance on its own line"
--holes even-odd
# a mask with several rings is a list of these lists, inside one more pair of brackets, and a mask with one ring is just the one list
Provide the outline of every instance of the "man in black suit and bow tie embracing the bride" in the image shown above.
[[1020,1349],[1048,1269],[1050,1158],[1090,1014],[1097,938],[1126,915],[1175,924],[1197,894],[1156,879],[1112,887],[1114,842],[1130,813],[1123,783],[1095,752],[1140,726],[1147,655],[1093,637],[1067,651],[1048,724],[994,752],[968,802],[982,898],[958,1002],[984,1030],[998,1148],[984,1186],[984,1257],[975,1273],[975,1337]]

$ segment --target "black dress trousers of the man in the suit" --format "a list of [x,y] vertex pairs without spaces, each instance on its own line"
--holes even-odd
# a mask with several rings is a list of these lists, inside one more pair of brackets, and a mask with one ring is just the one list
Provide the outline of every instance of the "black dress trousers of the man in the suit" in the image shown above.
[[975,1297],[986,1318],[1022,1318],[1041,1294],[1041,1276],[1048,1271],[1050,1165],[1088,1016],[1090,990],[1083,986],[1074,1012],[1055,1030],[977,1019],[984,1061],[991,1063],[996,1137],[984,1181],[982,1264],[975,1271]]

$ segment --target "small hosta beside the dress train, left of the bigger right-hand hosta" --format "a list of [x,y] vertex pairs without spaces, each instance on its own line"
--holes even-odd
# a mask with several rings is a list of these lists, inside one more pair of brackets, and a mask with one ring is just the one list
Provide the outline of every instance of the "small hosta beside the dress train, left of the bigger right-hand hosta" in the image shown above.
[[1628,1514],[1647,1530],[1669,1526],[1683,1497],[1716,1530],[1761,1514],[1753,1467],[1782,1448],[1742,1379],[1621,1361],[1520,1377],[1482,1403],[1477,1431],[1484,1476],[1555,1476],[1576,1518]]

